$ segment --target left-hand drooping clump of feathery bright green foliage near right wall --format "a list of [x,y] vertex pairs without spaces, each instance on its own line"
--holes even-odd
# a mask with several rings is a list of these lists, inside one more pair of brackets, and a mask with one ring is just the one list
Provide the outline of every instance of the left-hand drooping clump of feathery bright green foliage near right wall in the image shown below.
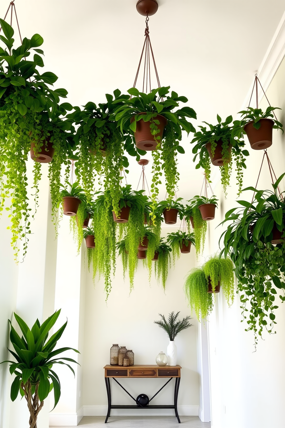
[[188,303],[196,313],[198,321],[200,321],[200,315],[203,320],[213,310],[212,293],[207,293],[208,282],[202,268],[193,268],[184,284],[184,291],[188,299]]

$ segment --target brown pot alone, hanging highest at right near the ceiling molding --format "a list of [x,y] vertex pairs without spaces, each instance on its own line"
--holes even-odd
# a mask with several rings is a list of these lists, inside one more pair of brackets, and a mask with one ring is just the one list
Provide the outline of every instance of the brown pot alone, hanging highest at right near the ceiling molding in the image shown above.
[[263,150],[270,147],[272,144],[272,129],[274,122],[271,119],[260,119],[260,128],[253,128],[254,122],[248,122],[244,126],[244,131],[250,142],[250,146],[254,150]]

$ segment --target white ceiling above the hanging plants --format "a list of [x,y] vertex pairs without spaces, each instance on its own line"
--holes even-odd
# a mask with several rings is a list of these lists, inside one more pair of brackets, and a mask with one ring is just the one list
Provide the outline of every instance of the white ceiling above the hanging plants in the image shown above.
[[[45,70],[59,76],[55,86],[68,90],[73,105],[104,102],[106,92],[132,87],[145,28],[135,5],[136,0],[15,0],[22,36],[43,36]],[[0,16],[8,6],[9,0],[1,1]],[[284,11],[284,0],[159,0],[149,28],[160,82],[188,97],[197,112],[194,126],[215,122],[217,113],[235,117]],[[183,141],[177,196],[190,199],[200,193],[203,175],[194,169],[191,136]],[[131,160],[128,182],[136,188],[141,167]],[[148,182],[150,170],[149,165]]]

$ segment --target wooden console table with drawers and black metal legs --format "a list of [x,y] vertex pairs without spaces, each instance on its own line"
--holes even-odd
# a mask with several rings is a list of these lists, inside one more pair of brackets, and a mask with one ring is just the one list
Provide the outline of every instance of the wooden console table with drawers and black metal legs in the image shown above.
[[[178,411],[177,411],[177,399],[178,399],[178,391],[179,391],[179,383],[180,383],[180,369],[181,366],[151,366],[151,365],[134,365],[134,366],[105,366],[105,382],[107,389],[107,397],[108,397],[108,412],[106,416],[105,423],[107,423],[108,418],[110,416],[111,409],[174,409],[175,416],[177,421],[180,423]],[[111,385],[110,385],[110,377],[112,377],[116,383],[120,385],[120,387],[136,402],[135,405],[118,405],[111,404]],[[150,401],[170,382],[173,378],[175,378],[175,387],[174,387],[174,403],[173,404],[165,404],[165,405],[147,405],[142,406],[139,404],[134,397],[118,382],[116,378],[138,378],[138,377],[169,377],[170,379],[150,398]]]

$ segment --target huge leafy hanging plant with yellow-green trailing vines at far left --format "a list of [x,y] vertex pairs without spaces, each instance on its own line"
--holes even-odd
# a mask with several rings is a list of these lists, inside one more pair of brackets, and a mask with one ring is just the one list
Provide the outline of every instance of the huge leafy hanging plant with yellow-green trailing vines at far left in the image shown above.
[[[18,238],[23,241],[25,256],[27,234],[30,233],[26,160],[32,143],[36,155],[41,149],[47,149],[50,123],[58,112],[59,97],[65,98],[67,91],[51,89],[50,85],[57,80],[56,75],[50,71],[41,73],[38,69],[44,66],[43,51],[38,49],[43,43],[42,37],[39,34],[31,39],[25,37],[22,44],[14,48],[13,28],[3,20],[0,24],[4,33],[1,41],[5,45],[4,49],[0,48],[0,205],[3,208],[5,199],[11,196],[11,205],[7,207],[11,211],[9,229],[15,260],[18,260]],[[29,60],[32,51],[35,53]],[[41,177],[39,156],[37,160],[33,180],[35,210]]]

